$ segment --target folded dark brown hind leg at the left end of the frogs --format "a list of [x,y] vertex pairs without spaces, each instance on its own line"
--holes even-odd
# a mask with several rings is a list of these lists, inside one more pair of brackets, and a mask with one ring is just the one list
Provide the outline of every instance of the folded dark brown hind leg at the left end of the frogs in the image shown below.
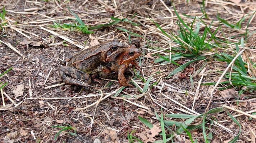
[[[60,77],[66,84],[80,85],[83,87],[97,88],[89,85],[91,83],[91,77],[84,71],[78,70],[70,66],[60,66]],[[99,88],[97,88],[99,89]]]

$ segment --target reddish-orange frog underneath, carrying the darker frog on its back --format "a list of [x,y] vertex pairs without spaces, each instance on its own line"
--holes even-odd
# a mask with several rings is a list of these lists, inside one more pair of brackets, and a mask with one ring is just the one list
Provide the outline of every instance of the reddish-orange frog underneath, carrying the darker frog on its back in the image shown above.
[[135,65],[138,69],[135,59],[140,55],[139,49],[135,45],[131,45],[118,55],[115,62],[106,63],[103,70],[99,72],[99,76],[102,78],[118,78],[121,86],[132,86],[124,77],[124,72],[131,65]]

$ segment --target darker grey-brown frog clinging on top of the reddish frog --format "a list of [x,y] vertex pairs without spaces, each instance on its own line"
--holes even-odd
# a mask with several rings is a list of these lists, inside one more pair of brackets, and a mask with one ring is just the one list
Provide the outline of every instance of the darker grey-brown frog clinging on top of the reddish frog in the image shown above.
[[128,45],[122,44],[118,39],[104,42],[91,48],[81,50],[65,61],[67,66],[59,68],[60,77],[66,84],[93,87],[90,75],[100,72],[101,63],[114,62],[118,54],[122,53]]

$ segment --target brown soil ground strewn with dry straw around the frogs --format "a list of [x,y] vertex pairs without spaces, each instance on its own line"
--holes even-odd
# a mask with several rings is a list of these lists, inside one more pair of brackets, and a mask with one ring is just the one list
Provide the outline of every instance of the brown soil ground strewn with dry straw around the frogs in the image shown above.
[[[89,27],[115,20],[110,19],[111,16],[122,21],[93,29],[92,34],[54,26],[53,21],[59,25],[78,24],[68,7]],[[0,73],[13,67],[0,77],[1,82],[8,82],[1,91],[1,142],[91,143],[99,139],[102,143],[127,143],[135,141],[134,137],[145,143],[155,140],[163,142],[165,137],[162,131],[165,129],[167,142],[192,142],[197,139],[197,142],[226,143],[239,134],[237,142],[255,143],[256,117],[249,118],[244,113],[256,112],[256,75],[252,71],[256,62],[255,0],[174,0],[173,3],[168,0],[3,0],[0,8],[6,11],[0,25]],[[161,29],[157,28],[157,24]],[[189,35],[180,36],[180,28],[186,28],[184,25],[192,29],[185,30],[187,33],[198,30],[200,35],[205,35],[201,49],[192,45],[198,39],[187,42]],[[206,28],[209,30],[204,31]],[[67,39],[64,41],[61,36],[73,43]],[[118,90],[116,80],[99,79],[102,85],[96,82],[92,85],[100,87],[101,93],[92,88],[80,92],[81,87],[61,84],[58,69],[64,58],[81,50],[79,46],[90,48],[114,38],[126,44],[130,40],[140,40],[143,54],[137,62],[143,72],[138,74],[138,70],[132,68],[129,69],[131,72],[127,71],[127,78],[133,76],[134,87]],[[208,40],[210,43],[207,44]],[[11,49],[10,45],[23,55]],[[230,63],[239,51],[243,53],[238,59],[241,57],[246,62],[242,65],[246,67],[246,75],[243,76],[248,76],[246,80],[251,79],[251,89],[247,88],[249,83],[233,83],[233,86],[228,86],[229,82],[219,83],[229,81],[229,78],[221,78],[225,69],[228,69],[229,75],[228,65],[233,68],[231,72],[235,72],[236,63]],[[221,53],[233,58],[229,62],[218,60],[221,58],[216,54]],[[222,54],[223,57],[229,56]],[[247,63],[248,59],[251,65]],[[159,65],[164,61],[165,65]],[[166,78],[170,73],[173,74]],[[215,83],[206,84],[212,82]],[[223,87],[224,90],[220,89]],[[117,90],[121,92],[116,94]],[[111,92],[114,92],[113,96],[108,94]],[[83,96],[89,94],[90,97]],[[100,101],[106,96],[108,98]],[[89,106],[92,103],[96,104]],[[84,107],[87,108],[76,110]],[[210,112],[204,114],[205,110]],[[181,114],[187,114],[187,117],[181,117]],[[200,114],[202,116],[189,121]],[[241,133],[236,121],[241,125]],[[68,127],[67,124],[74,127],[72,129],[77,131],[77,136],[68,133],[74,132],[72,129],[58,135],[61,128],[52,127]],[[179,128],[180,125],[188,132]],[[204,139],[206,135],[207,140]]]

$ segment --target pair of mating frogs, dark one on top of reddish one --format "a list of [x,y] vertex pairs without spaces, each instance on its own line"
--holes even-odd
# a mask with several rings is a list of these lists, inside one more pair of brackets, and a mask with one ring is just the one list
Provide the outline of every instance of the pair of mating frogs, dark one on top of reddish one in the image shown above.
[[131,86],[124,77],[129,65],[140,56],[134,45],[125,45],[114,39],[91,48],[81,50],[65,60],[67,66],[59,68],[60,77],[67,84],[92,87],[91,77],[116,78],[122,86]]

